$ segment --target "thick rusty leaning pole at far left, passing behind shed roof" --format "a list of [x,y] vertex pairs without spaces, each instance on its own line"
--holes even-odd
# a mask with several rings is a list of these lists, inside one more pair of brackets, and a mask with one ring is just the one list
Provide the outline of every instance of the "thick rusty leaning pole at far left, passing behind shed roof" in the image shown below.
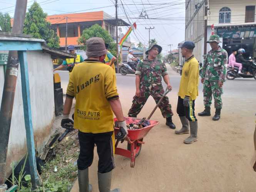
[[[16,0],[12,33],[23,33],[27,0]],[[6,179],[6,157],[18,75],[18,52],[9,51],[0,109],[0,185]]]

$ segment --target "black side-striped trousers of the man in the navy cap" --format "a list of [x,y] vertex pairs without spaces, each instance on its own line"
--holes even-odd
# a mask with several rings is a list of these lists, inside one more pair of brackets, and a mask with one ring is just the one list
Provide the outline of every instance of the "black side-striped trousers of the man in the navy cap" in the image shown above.
[[189,106],[185,107],[183,105],[183,99],[179,96],[177,104],[177,114],[180,117],[186,116],[189,121],[197,121],[195,116],[195,100],[189,102]]

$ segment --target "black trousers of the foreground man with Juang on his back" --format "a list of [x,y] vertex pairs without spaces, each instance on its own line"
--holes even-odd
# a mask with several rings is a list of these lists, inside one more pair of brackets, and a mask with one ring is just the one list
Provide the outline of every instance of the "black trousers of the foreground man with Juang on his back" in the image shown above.
[[107,173],[115,168],[113,131],[104,133],[84,133],[79,131],[80,154],[77,160],[79,170],[92,165],[94,157],[94,144],[97,146],[99,156],[98,172]]

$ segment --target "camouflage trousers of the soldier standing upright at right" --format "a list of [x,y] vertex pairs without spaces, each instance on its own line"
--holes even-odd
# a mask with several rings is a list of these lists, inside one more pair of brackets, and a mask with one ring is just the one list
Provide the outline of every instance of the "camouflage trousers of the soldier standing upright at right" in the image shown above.
[[218,81],[204,80],[204,106],[210,107],[212,104],[212,95],[214,98],[214,108],[222,108],[221,94],[223,94],[222,88],[219,87]]

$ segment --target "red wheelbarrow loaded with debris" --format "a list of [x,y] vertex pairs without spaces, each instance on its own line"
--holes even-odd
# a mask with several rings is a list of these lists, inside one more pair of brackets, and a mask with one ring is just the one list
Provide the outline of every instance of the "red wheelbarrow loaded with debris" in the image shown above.
[[[127,124],[136,124],[141,119],[138,118],[125,118]],[[117,121],[116,118],[114,118],[114,121]],[[144,144],[143,138],[146,137],[147,133],[157,124],[159,124],[158,121],[148,120],[150,122],[149,126],[143,127],[142,129],[128,129],[128,135],[126,137],[127,140],[127,149],[118,148],[117,145],[119,143],[119,140],[115,143],[115,154],[128,157],[131,159],[131,167],[135,166],[135,158],[139,156],[141,152],[141,146]],[[119,132],[119,128],[115,127],[115,135]]]

